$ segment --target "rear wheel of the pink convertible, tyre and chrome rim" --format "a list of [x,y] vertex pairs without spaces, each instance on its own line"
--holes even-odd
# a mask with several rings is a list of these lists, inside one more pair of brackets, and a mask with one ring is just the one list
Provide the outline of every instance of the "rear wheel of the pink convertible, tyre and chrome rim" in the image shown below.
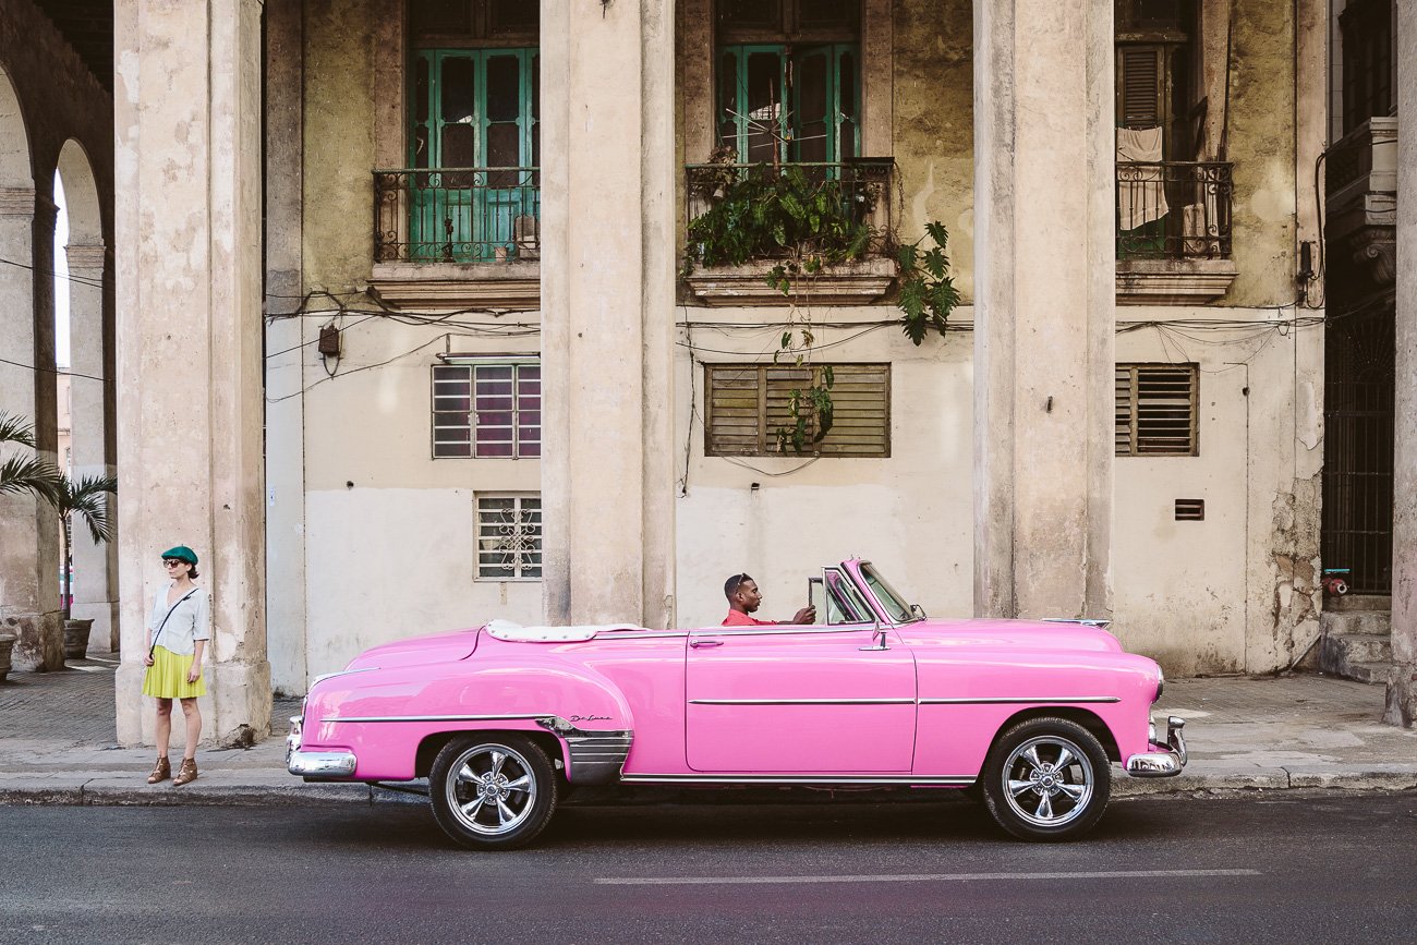
[[546,752],[524,735],[459,735],[428,775],[434,817],[473,850],[514,850],[551,820],[560,783]]

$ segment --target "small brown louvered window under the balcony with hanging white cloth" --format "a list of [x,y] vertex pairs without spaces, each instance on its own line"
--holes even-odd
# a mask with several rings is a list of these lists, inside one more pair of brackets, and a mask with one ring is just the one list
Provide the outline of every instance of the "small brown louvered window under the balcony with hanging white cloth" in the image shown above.
[[1118,364],[1117,455],[1197,456],[1199,402],[1195,364]]

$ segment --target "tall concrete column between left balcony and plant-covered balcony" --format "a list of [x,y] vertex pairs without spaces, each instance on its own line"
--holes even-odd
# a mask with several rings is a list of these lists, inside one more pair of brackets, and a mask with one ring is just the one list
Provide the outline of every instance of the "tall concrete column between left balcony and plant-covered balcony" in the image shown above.
[[673,24],[541,1],[548,622],[673,619]]

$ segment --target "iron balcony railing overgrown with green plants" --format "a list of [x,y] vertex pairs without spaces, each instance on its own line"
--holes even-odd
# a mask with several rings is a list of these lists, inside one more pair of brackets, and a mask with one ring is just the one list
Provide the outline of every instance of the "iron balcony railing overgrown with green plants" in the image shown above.
[[[857,157],[842,163],[785,163],[785,164],[686,164],[684,166],[684,222],[694,228],[694,221],[718,207],[735,194],[748,193],[754,184],[775,188],[779,196],[791,193],[798,200],[825,197],[818,204],[826,208],[829,220],[823,225],[864,224],[874,234],[873,248],[888,248],[891,234],[891,187],[896,179],[896,162],[891,157]],[[757,193],[757,191],[754,191]],[[786,201],[784,201],[786,203]],[[811,207],[806,208],[811,217]],[[802,232],[809,234],[811,227]],[[691,237],[690,237],[691,238]],[[788,234],[791,239],[791,234]],[[771,258],[772,248],[754,256]]]

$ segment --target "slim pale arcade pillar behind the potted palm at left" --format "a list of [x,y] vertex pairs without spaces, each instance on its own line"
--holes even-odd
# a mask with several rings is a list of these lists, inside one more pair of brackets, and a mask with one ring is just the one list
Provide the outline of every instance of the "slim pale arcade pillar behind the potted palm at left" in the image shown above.
[[[108,453],[106,431],[113,404],[109,387],[95,377],[103,373],[103,271],[108,248],[102,244],[69,244],[69,400],[72,402],[74,480],[84,476],[116,475]],[[109,511],[116,504],[109,499]],[[112,520],[112,517],[111,517]],[[94,544],[88,528],[74,528],[74,619],[94,621],[91,650],[113,649],[118,629],[118,544]]]

